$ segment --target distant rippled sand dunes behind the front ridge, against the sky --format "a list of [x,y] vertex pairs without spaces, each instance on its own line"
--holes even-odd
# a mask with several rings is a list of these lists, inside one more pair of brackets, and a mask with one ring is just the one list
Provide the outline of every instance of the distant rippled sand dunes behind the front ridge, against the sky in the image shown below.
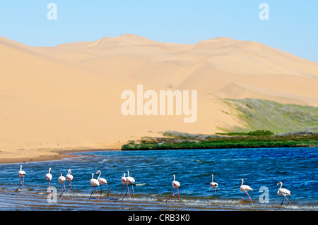
[[318,98],[317,63],[257,42],[219,37],[196,44],[171,44],[122,35],[36,49],[86,68],[172,89],[198,90],[203,96],[236,82],[283,92],[292,95],[291,99],[295,95]]

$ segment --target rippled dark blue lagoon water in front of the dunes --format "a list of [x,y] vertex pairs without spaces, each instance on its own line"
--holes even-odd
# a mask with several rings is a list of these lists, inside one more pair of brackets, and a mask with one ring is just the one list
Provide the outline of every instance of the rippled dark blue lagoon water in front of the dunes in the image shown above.
[[[222,150],[149,150],[81,152],[78,157],[50,162],[23,163],[26,172],[23,190],[18,171],[20,164],[0,165],[0,210],[278,210],[282,196],[277,195],[277,183],[293,193],[288,196],[294,210],[318,209],[318,147],[222,149]],[[57,189],[56,202],[47,200],[48,182]],[[71,169],[72,193],[61,193],[57,178]],[[98,201],[90,186],[92,173],[102,171],[110,186],[102,186]],[[127,194],[119,200],[120,178],[130,171],[136,180],[135,197]],[[172,175],[181,183],[180,202],[172,195]],[[218,183],[216,200],[209,186],[211,174]],[[249,192],[254,205],[240,192],[240,179],[253,188]],[[66,181],[66,188],[68,183]],[[262,203],[268,188],[269,202]],[[100,187],[98,187],[100,193]],[[123,193],[126,193],[124,186]],[[175,190],[177,194],[177,190]],[[50,201],[54,198],[49,197]],[[290,210],[286,200],[280,210]]]

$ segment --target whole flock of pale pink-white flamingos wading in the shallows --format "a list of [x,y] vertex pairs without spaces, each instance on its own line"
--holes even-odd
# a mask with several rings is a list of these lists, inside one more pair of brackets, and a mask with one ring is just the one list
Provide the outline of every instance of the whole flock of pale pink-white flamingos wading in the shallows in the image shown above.
[[[52,180],[52,174],[51,174],[51,171],[52,169],[49,168],[49,173],[45,175],[45,178],[47,178],[47,181],[49,181],[49,193],[51,193],[51,190],[50,190],[50,187],[51,187],[51,180]],[[102,174],[101,171],[97,171],[96,174]],[[20,177],[20,186],[24,186],[24,177],[25,177],[25,171],[22,170],[22,165],[20,166],[20,171],[18,171],[18,176]],[[94,192],[94,189],[96,190],[96,194],[97,194],[97,197],[98,197],[98,190],[96,189],[96,186],[100,186],[100,196],[102,196],[102,185],[105,184],[107,187],[108,187],[108,194],[107,194],[107,197],[109,197],[109,194],[110,194],[110,186],[107,185],[107,180],[105,178],[100,178],[100,175],[98,176],[97,179],[94,178],[94,174],[92,174],[92,178],[90,179],[90,185],[93,186],[93,190],[92,190],[92,193],[90,193],[90,197],[92,197],[93,195],[93,192]],[[218,183],[214,182],[213,181],[213,174],[211,175],[211,183],[210,183],[210,186],[211,188],[214,188],[215,189],[215,198],[216,198],[216,190],[218,188]],[[71,169],[69,169],[69,174],[66,175],[66,178],[65,176],[62,176],[62,173],[59,174],[59,183],[61,184],[61,195],[64,193],[64,191],[66,190],[65,188],[65,181],[68,181],[69,182],[69,187],[67,188],[66,190],[66,193],[67,191],[69,190],[70,188],[70,193],[71,193],[71,190],[72,190],[72,180],[73,180],[73,175],[71,174]],[[134,193],[134,186],[133,184],[135,183],[135,179],[131,176],[129,176],[129,171],[127,171],[127,176],[126,176],[126,173],[124,173],[124,176],[121,178],[121,181],[122,181],[122,190],[123,190],[123,187],[124,185],[126,184],[126,194],[129,193],[129,184],[131,184],[131,188],[133,190],[133,194],[134,194],[134,197],[135,197],[135,193]],[[242,184],[241,184],[242,182]],[[253,190],[251,187],[247,186],[247,185],[243,185],[243,182],[244,180],[241,179],[240,180],[240,191],[244,191],[244,196],[243,196],[243,199],[242,199],[242,202],[245,198],[245,193],[249,196],[249,194],[247,193],[249,190]],[[179,195],[179,186],[180,183],[178,181],[175,181],[175,174],[173,174],[173,181],[172,181],[172,196],[169,197],[167,200],[170,200],[170,198],[172,197],[175,197],[175,188],[177,188],[177,193],[178,193],[178,201],[180,201],[180,195]],[[289,195],[292,195],[292,193],[290,193],[290,190],[287,190],[285,188],[281,188],[283,186],[283,183],[282,182],[279,182],[277,183],[277,186],[278,185],[281,185],[277,191],[277,194],[278,195],[283,195],[283,201],[284,201],[284,198],[288,201],[287,197],[286,196],[289,196]],[[18,189],[20,188],[20,186],[18,187]],[[64,186],[64,188],[63,188]],[[18,192],[18,189],[16,190]],[[126,194],[124,195],[124,197],[126,196]],[[59,197],[61,197],[61,195],[59,195]],[[120,196],[119,196],[119,199],[120,197],[122,197],[122,191],[120,193]],[[122,200],[124,200],[124,197],[122,197]],[[130,193],[129,193],[129,197],[130,196]],[[90,198],[89,198],[90,199]],[[98,197],[98,200],[100,200],[100,198]],[[167,200],[165,200],[167,202]],[[252,202],[252,199],[251,197],[249,197],[249,200],[251,201],[252,205],[253,205],[253,202]],[[283,201],[281,202],[281,205],[283,205]],[[241,202],[241,203],[242,203]],[[280,205],[280,209],[281,209],[281,205]],[[290,202],[288,201],[288,205],[290,206],[290,209],[293,210],[293,208],[291,207],[290,205]]]

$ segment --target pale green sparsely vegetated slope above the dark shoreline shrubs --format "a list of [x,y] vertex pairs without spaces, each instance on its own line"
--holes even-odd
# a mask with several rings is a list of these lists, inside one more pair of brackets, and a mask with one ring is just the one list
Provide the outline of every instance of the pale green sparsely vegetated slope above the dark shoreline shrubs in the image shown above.
[[271,130],[273,133],[305,131],[318,133],[318,108],[280,104],[263,99],[226,99],[232,111],[238,112],[242,127],[224,130],[245,133],[249,130]]

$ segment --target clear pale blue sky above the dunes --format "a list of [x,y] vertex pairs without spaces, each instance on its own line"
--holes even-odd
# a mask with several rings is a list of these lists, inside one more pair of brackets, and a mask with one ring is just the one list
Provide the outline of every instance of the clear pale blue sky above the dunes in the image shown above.
[[[57,20],[47,19],[51,2]],[[269,20],[259,19],[263,2]],[[215,37],[252,40],[318,62],[318,1],[0,1],[0,35],[32,47],[126,33],[187,44]]]

